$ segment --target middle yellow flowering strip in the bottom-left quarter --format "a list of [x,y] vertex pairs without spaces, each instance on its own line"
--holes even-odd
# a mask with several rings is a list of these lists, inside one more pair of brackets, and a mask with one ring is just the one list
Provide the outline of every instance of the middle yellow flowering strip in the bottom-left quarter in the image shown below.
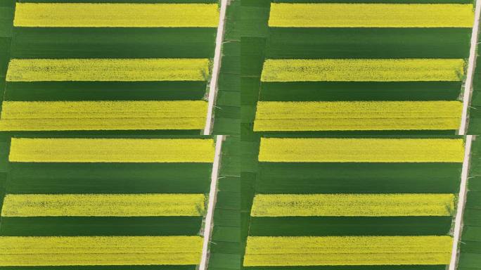
[[203,194],[8,194],[2,217],[202,216]]

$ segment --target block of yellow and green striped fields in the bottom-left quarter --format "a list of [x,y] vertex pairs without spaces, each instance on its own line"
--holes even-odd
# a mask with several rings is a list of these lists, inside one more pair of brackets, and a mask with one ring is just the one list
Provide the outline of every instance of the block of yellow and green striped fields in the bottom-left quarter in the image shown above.
[[30,136],[7,150],[2,268],[199,264],[212,139]]

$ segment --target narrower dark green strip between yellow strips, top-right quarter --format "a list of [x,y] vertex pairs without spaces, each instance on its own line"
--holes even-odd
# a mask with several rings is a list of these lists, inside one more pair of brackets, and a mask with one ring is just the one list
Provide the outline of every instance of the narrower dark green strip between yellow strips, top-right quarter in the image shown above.
[[[9,93],[7,84],[6,98],[19,88]],[[259,101],[456,101],[459,89],[461,82],[262,82]]]

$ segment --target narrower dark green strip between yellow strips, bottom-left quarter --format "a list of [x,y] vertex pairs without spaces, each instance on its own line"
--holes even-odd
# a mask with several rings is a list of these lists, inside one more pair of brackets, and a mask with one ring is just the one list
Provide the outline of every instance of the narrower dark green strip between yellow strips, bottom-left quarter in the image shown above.
[[202,217],[1,217],[2,236],[194,236]]

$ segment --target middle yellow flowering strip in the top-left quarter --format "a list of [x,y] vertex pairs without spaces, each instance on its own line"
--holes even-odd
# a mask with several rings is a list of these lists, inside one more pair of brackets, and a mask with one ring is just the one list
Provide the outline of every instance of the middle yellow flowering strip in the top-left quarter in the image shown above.
[[11,59],[8,82],[206,81],[207,58]]

